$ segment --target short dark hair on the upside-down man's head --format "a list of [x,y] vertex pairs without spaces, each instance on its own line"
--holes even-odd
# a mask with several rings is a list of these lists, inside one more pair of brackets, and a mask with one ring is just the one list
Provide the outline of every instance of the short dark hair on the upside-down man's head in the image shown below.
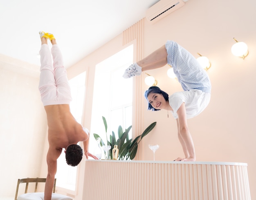
[[77,144],[71,144],[66,150],[66,162],[75,167],[83,158],[83,149]]

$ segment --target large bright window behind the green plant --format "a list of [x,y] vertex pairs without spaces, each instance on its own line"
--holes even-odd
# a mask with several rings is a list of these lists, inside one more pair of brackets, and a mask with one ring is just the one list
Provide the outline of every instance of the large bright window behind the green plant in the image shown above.
[[[133,45],[126,47],[110,58],[97,64],[94,78],[91,133],[97,133],[106,143],[102,116],[108,124],[108,140],[112,131],[117,134],[118,126],[123,129],[132,125],[132,78],[122,76],[133,62]],[[129,132],[131,134],[131,131]],[[130,136],[131,137],[131,136]],[[90,140],[91,153],[96,140]]]

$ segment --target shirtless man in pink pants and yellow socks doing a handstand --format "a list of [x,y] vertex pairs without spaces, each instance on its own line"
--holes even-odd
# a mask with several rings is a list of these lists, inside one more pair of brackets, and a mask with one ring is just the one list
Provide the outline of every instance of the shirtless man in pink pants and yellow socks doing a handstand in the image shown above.
[[[60,49],[51,33],[39,32],[41,38],[40,49],[40,81],[39,91],[41,100],[47,113],[48,142],[47,153],[48,173],[45,183],[45,200],[51,200],[54,178],[57,171],[57,159],[65,148],[67,164],[76,166],[82,160],[83,150],[78,142],[83,141],[86,158],[98,159],[88,152],[89,131],[76,122],[70,113],[71,92],[63,67]],[[47,44],[52,43],[52,56]],[[53,64],[52,64],[53,58]]]

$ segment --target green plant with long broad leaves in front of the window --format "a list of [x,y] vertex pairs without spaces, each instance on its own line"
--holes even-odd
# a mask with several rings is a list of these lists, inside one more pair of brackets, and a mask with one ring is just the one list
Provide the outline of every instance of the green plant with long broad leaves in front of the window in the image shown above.
[[119,156],[118,160],[132,160],[135,158],[137,149],[138,149],[138,144],[144,138],[156,125],[157,122],[153,122],[150,124],[141,135],[137,136],[134,140],[132,138],[129,138],[129,131],[132,128],[132,126],[128,127],[125,131],[123,131],[122,127],[118,127],[118,133],[117,136],[115,135],[114,131],[112,131],[112,135],[110,135],[110,140],[108,140],[107,136],[107,129],[108,125],[106,122],[106,118],[102,116],[103,123],[105,126],[105,131],[106,131],[106,138],[107,138],[107,144],[105,144],[102,140],[102,138],[94,133],[93,136],[97,140],[97,138],[101,138],[100,146],[106,146],[109,145],[111,148],[109,149],[108,153],[105,151],[105,158],[106,159],[112,159],[112,149],[114,148],[114,145],[118,146],[119,149]]

